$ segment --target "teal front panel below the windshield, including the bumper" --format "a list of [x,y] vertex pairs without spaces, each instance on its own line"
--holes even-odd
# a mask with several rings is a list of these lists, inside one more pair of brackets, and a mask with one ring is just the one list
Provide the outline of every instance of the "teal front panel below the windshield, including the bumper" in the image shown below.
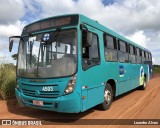
[[[64,95],[64,89],[70,78],[57,79],[17,79],[19,89],[16,97],[22,106],[40,108],[58,112],[77,113],[81,111],[81,100],[78,90]],[[36,82],[36,81],[39,82]],[[53,87],[52,91],[44,91],[43,87]],[[78,85],[77,85],[78,86]],[[33,105],[33,100],[43,101],[43,106]],[[25,102],[25,104],[23,103]],[[57,108],[56,108],[57,105]]]

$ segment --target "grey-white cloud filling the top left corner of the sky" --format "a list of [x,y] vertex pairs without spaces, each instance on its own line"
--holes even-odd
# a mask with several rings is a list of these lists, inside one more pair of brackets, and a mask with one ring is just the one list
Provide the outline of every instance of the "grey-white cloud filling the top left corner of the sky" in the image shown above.
[[8,24],[22,18],[25,13],[22,0],[1,0],[0,1],[0,23]]

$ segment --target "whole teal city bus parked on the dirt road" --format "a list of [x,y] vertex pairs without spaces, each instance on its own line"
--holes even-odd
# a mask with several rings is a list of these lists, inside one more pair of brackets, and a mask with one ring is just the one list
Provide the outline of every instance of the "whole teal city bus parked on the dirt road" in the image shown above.
[[49,17],[19,40],[16,98],[21,106],[64,112],[110,108],[152,77],[151,52],[81,14]]

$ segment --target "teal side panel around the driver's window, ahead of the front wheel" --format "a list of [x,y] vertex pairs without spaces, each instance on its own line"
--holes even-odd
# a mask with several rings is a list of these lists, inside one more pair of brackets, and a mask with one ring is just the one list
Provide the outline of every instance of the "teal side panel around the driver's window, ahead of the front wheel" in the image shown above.
[[[102,32],[86,25],[88,30],[93,32],[94,34],[96,34],[98,36],[98,45],[99,48],[101,47],[100,45],[102,45],[102,39],[101,39],[101,34]],[[80,37],[82,37],[82,31],[80,30]],[[80,39],[80,47],[82,46],[81,44],[81,39]],[[81,58],[82,56],[82,51],[81,49],[79,50],[80,56],[79,58]],[[85,111],[89,108],[92,108],[94,106],[96,106],[97,104],[100,104],[103,102],[104,100],[104,84],[103,82],[105,82],[104,77],[99,77],[103,72],[103,57],[101,56],[103,54],[103,50],[99,50],[100,53],[100,58],[101,58],[101,63],[98,65],[95,65],[93,67],[90,67],[87,70],[84,70],[82,68],[82,60],[80,60],[79,62],[79,78],[81,79],[81,90],[82,90],[82,111]],[[103,75],[101,75],[103,76]]]

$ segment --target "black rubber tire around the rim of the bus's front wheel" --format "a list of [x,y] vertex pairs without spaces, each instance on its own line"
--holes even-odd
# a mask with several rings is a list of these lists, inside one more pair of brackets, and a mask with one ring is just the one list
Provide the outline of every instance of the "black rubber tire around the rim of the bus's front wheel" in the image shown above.
[[[100,110],[107,110],[107,109],[109,109],[111,107],[112,102],[113,102],[113,94],[114,93],[113,93],[113,89],[112,89],[111,85],[107,83],[106,87],[105,87],[105,90],[110,91],[110,93],[111,93],[111,100],[110,100],[110,102],[108,104],[106,104],[105,98],[104,98],[104,102],[98,105],[98,108]],[[104,90],[104,93],[105,93],[105,90]]]

